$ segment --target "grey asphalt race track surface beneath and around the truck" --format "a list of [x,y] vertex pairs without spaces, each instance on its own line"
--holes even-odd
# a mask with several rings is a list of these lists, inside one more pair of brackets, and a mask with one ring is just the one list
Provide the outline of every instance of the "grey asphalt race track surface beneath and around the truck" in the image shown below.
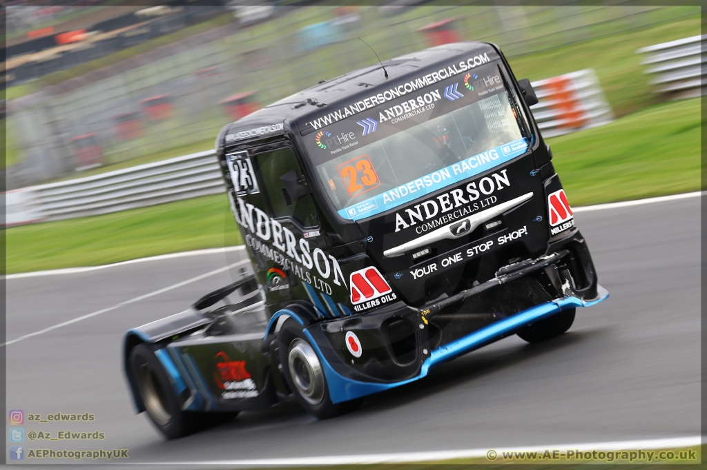
[[[576,220],[611,297],[578,309],[566,335],[535,345],[504,339],[329,421],[279,406],[170,442],[134,414],[120,361],[122,335],[232,282],[235,268],[224,267],[243,252],[8,279],[8,341],[131,302],[8,344],[7,407],[25,411],[25,433],[105,433],[98,441],[25,438],[25,452],[128,449],[132,464],[699,435],[699,198],[579,212]],[[30,413],[57,412],[88,412],[95,421],[26,421]],[[74,463],[23,463],[48,462]]]

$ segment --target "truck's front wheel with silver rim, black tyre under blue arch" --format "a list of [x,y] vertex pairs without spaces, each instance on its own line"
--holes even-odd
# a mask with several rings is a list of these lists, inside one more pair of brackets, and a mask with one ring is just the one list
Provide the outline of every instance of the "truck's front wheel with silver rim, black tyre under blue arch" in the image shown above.
[[278,341],[285,381],[305,411],[327,419],[361,406],[363,398],[332,403],[319,356],[296,321],[288,320],[282,325]]

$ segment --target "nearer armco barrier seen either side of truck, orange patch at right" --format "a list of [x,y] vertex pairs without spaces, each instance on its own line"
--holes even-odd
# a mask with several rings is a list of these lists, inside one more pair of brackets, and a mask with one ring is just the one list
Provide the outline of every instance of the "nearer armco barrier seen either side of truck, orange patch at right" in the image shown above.
[[[540,100],[532,112],[546,137],[613,119],[593,71],[568,73],[532,85]],[[13,217],[8,218],[6,225],[107,214],[223,191],[214,150],[206,150],[86,178],[23,188],[18,191],[21,197],[8,198],[8,214]]]

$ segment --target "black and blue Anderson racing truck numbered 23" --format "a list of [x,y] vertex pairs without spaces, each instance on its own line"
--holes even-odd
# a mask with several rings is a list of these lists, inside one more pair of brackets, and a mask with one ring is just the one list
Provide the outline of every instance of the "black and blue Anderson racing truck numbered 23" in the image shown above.
[[322,80],[225,126],[251,269],[129,330],[138,412],[167,438],[296,402],[317,418],[607,298],[501,50],[459,42]]

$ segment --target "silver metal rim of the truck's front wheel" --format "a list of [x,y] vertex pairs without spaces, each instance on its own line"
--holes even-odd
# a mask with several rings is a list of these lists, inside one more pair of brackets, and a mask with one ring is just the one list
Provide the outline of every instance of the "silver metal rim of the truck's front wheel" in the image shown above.
[[298,393],[309,404],[318,404],[324,398],[324,370],[317,353],[303,339],[294,339],[290,343],[288,354],[290,376]]

